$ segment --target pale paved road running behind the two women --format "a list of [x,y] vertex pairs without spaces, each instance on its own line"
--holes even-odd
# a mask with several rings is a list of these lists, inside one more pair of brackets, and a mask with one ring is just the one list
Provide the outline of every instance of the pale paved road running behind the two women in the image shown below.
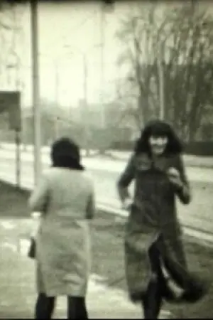
[[[84,159],[84,164],[91,172],[94,183],[97,201],[120,208],[120,203],[116,194],[116,181],[119,174],[124,169],[124,161],[111,161],[99,159]],[[50,165],[47,155],[43,155],[43,169]],[[13,152],[0,151],[0,178],[15,183],[15,159]],[[213,169],[187,168],[187,174],[191,181],[200,181],[205,190],[195,190],[194,201],[190,206],[182,206],[178,203],[180,220],[190,227],[212,233],[212,199],[209,196],[209,188],[213,190]],[[23,153],[21,156],[21,185],[25,187],[33,186],[33,154]],[[133,191],[133,186],[131,186]]]

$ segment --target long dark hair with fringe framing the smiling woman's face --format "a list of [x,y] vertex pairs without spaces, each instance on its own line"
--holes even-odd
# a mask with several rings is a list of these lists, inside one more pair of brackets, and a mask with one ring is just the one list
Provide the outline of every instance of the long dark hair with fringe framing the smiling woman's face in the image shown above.
[[165,154],[180,154],[183,151],[182,143],[175,133],[175,130],[165,121],[152,120],[148,122],[141,131],[141,137],[136,142],[135,153],[141,154],[143,152],[151,154],[148,139],[151,137],[168,137],[168,144],[165,149]]

